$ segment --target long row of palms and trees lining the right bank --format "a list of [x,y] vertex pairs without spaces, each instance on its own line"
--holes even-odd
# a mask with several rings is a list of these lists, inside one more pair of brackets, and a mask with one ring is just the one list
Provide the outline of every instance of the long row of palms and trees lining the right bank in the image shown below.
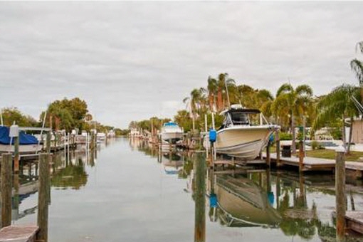
[[[357,43],[357,49],[363,53],[363,41]],[[261,110],[269,122],[280,125],[282,132],[289,132],[293,140],[295,153],[296,127],[312,127],[312,132],[321,127],[337,127],[342,130],[340,138],[344,138],[344,127],[352,124],[353,118],[359,115],[354,107],[352,97],[358,102],[363,100],[363,63],[354,58],[350,66],[357,75],[359,87],[340,85],[331,93],[316,97],[309,85],[293,87],[284,83],[275,95],[266,89],[256,89],[246,84],[237,84],[228,73],[220,73],[216,78],[209,76],[206,88],[194,88],[184,98],[185,110],[179,110],[174,120],[184,127],[185,131],[204,130],[204,116],[211,124],[211,113],[215,113],[216,127],[221,125],[223,117],[219,112],[231,104]],[[360,95],[359,95],[360,93]],[[361,102],[362,103],[362,102]],[[346,122],[350,119],[350,122]],[[352,133],[352,129],[350,129]],[[349,142],[352,139],[349,135]],[[349,145],[348,145],[349,148]],[[349,150],[349,149],[348,149]]]

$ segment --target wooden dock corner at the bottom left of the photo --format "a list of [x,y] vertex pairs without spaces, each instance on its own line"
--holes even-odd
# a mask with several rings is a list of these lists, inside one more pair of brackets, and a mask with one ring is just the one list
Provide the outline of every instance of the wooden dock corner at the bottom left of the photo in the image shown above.
[[0,242],[35,242],[38,230],[33,225],[7,226],[0,230]]

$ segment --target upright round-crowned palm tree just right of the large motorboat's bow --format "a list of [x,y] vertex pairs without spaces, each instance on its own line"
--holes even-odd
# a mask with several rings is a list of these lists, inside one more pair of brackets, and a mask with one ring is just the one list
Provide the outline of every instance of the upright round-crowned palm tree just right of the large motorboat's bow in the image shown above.
[[289,117],[291,132],[293,133],[293,154],[296,153],[295,118],[302,118],[307,108],[312,103],[312,88],[309,85],[299,85],[295,89],[290,83],[285,83],[278,88],[273,110],[275,115]]

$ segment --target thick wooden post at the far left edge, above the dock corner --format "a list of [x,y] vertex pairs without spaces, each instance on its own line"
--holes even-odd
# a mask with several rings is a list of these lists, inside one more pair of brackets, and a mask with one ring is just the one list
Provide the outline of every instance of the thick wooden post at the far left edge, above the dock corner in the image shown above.
[[11,225],[11,154],[2,154],[1,160],[1,226]]

